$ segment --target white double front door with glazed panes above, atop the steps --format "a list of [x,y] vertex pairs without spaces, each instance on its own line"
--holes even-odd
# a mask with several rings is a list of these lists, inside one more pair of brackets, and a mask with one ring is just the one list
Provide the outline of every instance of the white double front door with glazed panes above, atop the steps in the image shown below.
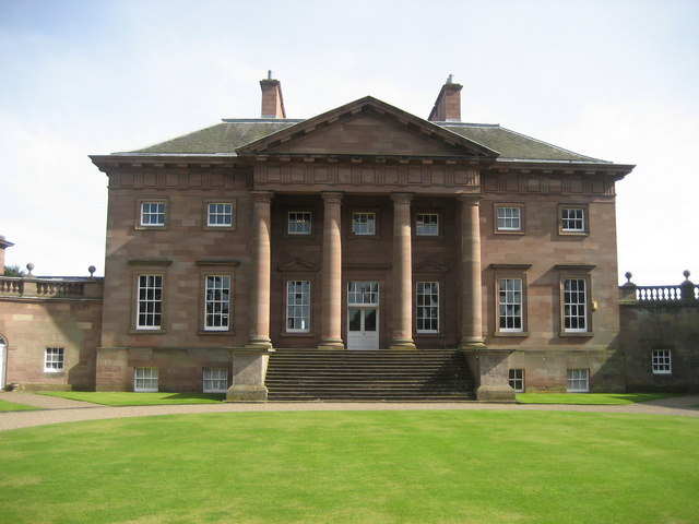
[[347,283],[347,349],[379,348],[379,283]]

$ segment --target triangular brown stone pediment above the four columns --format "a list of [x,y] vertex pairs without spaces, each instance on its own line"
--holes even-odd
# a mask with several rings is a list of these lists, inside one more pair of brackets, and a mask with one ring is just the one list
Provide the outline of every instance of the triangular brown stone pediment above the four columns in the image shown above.
[[370,96],[237,150],[238,155],[494,159],[498,153]]

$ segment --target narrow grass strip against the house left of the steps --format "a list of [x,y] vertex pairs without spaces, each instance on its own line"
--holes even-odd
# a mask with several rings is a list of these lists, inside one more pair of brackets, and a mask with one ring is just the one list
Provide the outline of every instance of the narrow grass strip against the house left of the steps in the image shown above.
[[88,391],[40,391],[40,395],[60,396],[105,406],[154,406],[161,404],[217,404],[226,395],[215,393],[131,393]]

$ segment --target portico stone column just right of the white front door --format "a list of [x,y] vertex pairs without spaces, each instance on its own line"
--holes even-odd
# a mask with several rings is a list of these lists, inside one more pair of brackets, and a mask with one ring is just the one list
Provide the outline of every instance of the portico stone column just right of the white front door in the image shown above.
[[415,349],[413,342],[412,193],[393,200],[393,337],[391,349]]

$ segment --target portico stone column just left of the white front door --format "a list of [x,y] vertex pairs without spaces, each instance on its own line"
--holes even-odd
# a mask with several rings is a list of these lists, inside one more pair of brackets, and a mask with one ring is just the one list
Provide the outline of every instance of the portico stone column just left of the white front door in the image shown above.
[[322,192],[323,199],[323,289],[321,349],[341,349],[342,343],[342,196]]

